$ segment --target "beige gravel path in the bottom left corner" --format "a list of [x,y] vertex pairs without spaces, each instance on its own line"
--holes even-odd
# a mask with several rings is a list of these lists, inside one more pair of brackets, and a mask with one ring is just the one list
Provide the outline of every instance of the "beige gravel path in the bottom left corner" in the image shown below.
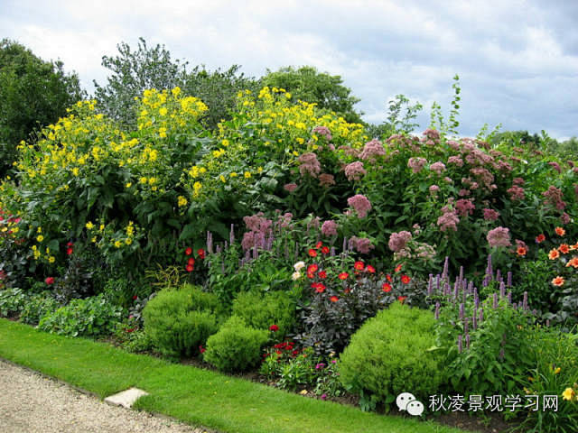
[[0,360],[2,433],[205,433],[202,428],[111,406]]

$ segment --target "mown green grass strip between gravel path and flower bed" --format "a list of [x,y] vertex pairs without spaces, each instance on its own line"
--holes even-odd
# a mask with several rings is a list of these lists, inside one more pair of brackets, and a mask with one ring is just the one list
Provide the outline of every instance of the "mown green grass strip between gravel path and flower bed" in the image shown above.
[[308,399],[191,366],[127,354],[90,340],[42,333],[5,319],[0,319],[0,357],[101,398],[136,386],[151,394],[137,402],[138,409],[228,433],[462,431]]

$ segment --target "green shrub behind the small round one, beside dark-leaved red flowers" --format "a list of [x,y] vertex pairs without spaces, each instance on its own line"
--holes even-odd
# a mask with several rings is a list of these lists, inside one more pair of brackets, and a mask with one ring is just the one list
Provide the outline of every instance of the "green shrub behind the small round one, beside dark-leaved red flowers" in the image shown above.
[[276,325],[279,329],[275,339],[283,339],[294,326],[295,304],[282,291],[266,294],[247,291],[240,293],[233,302],[233,316],[243,318],[247,325],[256,329],[269,329]]

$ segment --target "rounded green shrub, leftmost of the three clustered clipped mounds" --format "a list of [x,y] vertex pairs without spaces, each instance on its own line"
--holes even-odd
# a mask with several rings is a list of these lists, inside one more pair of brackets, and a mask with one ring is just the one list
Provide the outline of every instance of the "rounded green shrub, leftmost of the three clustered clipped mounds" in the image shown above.
[[219,329],[219,310],[217,297],[198,287],[161,290],[143,309],[144,329],[164,355],[191,356]]

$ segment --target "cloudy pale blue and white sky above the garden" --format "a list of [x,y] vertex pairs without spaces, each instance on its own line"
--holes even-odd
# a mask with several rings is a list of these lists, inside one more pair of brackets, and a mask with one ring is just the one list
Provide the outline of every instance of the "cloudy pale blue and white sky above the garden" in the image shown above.
[[[437,3],[437,5],[433,5]],[[578,135],[578,2],[574,0],[0,0],[0,37],[62,60],[92,91],[117,43],[164,44],[208,69],[313,65],[340,75],[368,122],[404,94],[448,114],[461,79],[462,135],[483,124]]]

